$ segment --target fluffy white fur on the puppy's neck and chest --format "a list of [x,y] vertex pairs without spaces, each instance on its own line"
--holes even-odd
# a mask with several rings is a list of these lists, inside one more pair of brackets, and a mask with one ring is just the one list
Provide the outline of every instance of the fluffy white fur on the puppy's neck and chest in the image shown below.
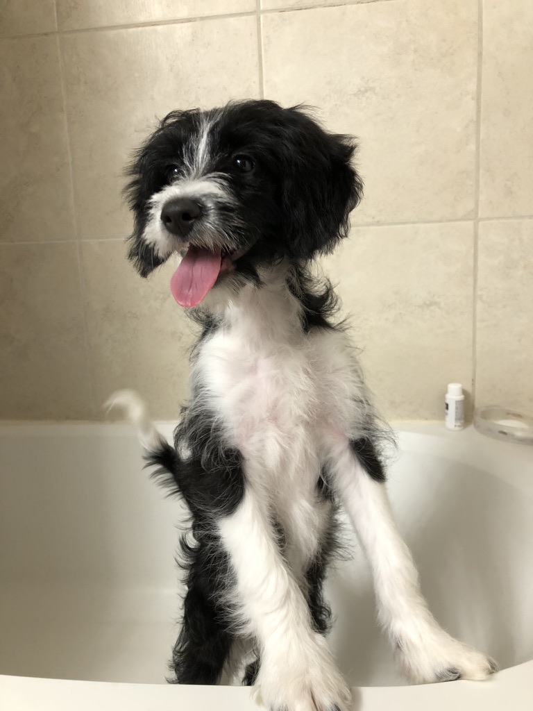
[[323,438],[357,428],[362,383],[344,333],[303,333],[300,308],[283,282],[242,289],[203,342],[193,380],[262,476],[301,479],[306,470],[316,482]]

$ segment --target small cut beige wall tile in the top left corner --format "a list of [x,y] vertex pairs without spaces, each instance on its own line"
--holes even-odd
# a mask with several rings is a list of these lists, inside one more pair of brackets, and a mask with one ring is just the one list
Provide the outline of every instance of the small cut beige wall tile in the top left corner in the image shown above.
[[0,37],[56,29],[54,0],[0,0]]

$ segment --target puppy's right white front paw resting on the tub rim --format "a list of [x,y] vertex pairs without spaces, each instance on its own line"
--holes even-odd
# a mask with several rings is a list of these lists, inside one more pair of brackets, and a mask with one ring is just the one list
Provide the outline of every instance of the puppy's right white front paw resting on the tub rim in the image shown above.
[[414,684],[458,679],[482,681],[498,670],[493,659],[442,630],[416,643],[402,640],[397,650],[404,673]]

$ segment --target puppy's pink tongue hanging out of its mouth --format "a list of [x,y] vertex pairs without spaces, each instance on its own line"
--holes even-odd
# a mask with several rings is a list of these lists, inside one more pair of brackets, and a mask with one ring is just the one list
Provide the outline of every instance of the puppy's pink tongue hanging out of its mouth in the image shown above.
[[198,306],[220,274],[220,249],[210,252],[205,247],[190,247],[172,275],[171,292],[180,306]]

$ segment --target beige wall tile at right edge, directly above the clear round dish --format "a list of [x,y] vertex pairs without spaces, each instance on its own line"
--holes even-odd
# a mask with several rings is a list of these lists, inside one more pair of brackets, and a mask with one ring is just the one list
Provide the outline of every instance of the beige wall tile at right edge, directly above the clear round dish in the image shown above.
[[476,404],[533,415],[533,220],[480,223]]

